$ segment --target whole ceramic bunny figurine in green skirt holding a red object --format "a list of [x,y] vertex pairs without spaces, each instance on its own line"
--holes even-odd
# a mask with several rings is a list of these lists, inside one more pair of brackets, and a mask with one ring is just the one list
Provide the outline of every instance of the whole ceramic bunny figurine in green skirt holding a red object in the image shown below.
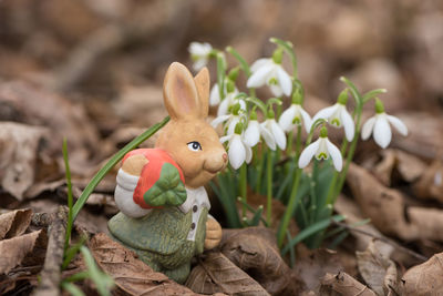
[[113,238],[177,283],[184,283],[193,256],[218,245],[222,227],[208,211],[204,188],[227,164],[227,154],[208,115],[209,72],[195,78],[172,63],[163,84],[171,121],[155,149],[125,155],[116,177],[120,213],[109,222]]

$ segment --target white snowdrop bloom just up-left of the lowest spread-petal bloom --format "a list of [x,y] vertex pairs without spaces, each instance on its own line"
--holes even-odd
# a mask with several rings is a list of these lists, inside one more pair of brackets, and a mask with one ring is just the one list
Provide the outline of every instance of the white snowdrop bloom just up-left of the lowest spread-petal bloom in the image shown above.
[[299,91],[295,92],[292,95],[292,104],[284,111],[278,124],[285,132],[291,131],[296,125],[305,125],[306,132],[309,133],[311,129],[311,116],[301,106],[301,96]]

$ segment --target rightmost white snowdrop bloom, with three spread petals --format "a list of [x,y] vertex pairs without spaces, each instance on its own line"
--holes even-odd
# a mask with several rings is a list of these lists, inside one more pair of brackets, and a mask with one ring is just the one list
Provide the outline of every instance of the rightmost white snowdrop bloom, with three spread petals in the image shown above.
[[363,124],[361,129],[361,139],[368,140],[372,133],[375,143],[382,149],[385,149],[389,143],[391,143],[392,139],[392,131],[389,123],[391,123],[400,134],[408,135],[406,125],[398,118],[388,115],[384,112],[383,103],[379,99],[375,99],[375,115]]

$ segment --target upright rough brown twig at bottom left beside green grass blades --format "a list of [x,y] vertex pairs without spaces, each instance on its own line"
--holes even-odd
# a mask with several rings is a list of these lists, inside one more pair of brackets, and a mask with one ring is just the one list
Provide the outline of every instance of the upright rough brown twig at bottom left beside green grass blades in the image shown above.
[[47,257],[41,283],[33,293],[34,296],[58,296],[60,295],[61,265],[63,262],[64,236],[66,232],[68,210],[60,206],[54,221],[49,228],[49,241]]

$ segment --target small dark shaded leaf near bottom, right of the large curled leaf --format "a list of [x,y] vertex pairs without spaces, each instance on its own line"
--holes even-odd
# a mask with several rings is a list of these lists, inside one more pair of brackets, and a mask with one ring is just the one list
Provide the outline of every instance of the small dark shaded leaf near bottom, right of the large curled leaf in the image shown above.
[[309,290],[318,290],[320,279],[328,273],[337,274],[343,269],[337,252],[327,248],[307,251],[300,256],[293,271],[300,275]]

